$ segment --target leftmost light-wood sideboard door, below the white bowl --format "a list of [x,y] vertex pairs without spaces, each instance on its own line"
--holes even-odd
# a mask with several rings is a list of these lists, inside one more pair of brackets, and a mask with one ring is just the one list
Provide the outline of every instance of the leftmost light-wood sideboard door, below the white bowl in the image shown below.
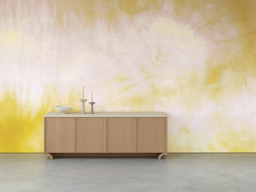
[[74,153],[74,117],[45,118],[45,152]]

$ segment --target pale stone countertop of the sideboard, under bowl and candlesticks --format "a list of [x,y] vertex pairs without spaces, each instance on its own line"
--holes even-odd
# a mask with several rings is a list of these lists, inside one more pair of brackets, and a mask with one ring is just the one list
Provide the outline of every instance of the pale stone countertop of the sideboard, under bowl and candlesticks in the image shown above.
[[48,112],[44,117],[167,117],[165,112]]

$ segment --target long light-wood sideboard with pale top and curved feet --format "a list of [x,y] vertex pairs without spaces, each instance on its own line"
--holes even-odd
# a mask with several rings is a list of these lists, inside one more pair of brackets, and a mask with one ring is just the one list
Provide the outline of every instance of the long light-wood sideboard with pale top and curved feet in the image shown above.
[[44,116],[44,154],[63,156],[158,156],[167,154],[164,112],[49,112]]

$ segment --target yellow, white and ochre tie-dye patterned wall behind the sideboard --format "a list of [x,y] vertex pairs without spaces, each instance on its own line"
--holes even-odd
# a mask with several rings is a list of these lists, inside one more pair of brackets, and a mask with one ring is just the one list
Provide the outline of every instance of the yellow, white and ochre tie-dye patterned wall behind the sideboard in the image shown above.
[[83,85],[94,111],[165,111],[168,152],[256,152],[255,18],[254,0],[1,0],[0,152],[43,152],[43,116],[81,110]]

